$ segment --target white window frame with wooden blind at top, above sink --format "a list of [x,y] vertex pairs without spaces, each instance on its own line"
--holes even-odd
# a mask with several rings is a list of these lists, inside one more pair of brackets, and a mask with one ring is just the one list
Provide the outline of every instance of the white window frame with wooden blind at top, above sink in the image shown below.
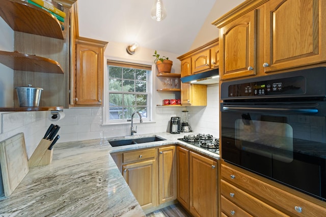
[[[104,67],[104,104],[103,104],[103,111],[102,111],[102,125],[125,125],[130,124],[130,119],[112,119],[110,120],[110,111],[109,111],[109,90],[108,90],[108,67],[107,66],[119,66],[119,67],[135,67],[136,69],[145,69],[149,70],[148,73],[148,80],[147,80],[147,117],[143,117],[143,122],[150,122],[152,121],[152,114],[153,114],[153,73],[155,73],[155,65],[149,62],[143,62],[143,61],[130,61],[127,59],[118,59],[118,58],[110,58],[107,57],[105,59],[105,67]],[[140,68],[138,68],[140,67]],[[143,67],[143,68],[141,68]],[[117,92],[120,93],[121,91]],[[137,116],[134,116],[134,118],[138,118]]]

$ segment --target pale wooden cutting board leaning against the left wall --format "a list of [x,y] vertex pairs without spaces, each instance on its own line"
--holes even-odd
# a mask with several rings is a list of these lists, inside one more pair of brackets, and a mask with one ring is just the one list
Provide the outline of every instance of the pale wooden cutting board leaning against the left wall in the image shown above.
[[23,133],[0,142],[0,166],[5,196],[8,197],[29,172]]

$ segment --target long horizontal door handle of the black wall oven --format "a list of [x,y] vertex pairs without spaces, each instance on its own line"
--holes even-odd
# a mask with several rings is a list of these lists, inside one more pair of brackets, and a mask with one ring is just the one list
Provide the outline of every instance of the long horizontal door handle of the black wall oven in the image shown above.
[[298,114],[317,114],[316,108],[248,108],[248,107],[228,107],[223,106],[224,111],[261,111],[261,112],[290,112]]

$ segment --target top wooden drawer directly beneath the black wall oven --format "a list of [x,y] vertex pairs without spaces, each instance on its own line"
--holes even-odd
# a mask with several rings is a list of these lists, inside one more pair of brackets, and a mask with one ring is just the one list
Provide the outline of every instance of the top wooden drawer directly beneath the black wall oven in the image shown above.
[[[251,174],[248,172],[248,174]],[[295,216],[326,216],[326,208],[279,189],[260,179],[242,173],[225,164],[221,165],[222,179],[264,200],[265,203]],[[307,196],[308,197],[308,196]]]

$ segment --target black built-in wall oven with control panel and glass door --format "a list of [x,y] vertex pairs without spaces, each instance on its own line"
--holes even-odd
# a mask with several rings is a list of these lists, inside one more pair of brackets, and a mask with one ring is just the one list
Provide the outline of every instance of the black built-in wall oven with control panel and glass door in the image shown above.
[[326,68],[221,85],[222,159],[326,201]]

